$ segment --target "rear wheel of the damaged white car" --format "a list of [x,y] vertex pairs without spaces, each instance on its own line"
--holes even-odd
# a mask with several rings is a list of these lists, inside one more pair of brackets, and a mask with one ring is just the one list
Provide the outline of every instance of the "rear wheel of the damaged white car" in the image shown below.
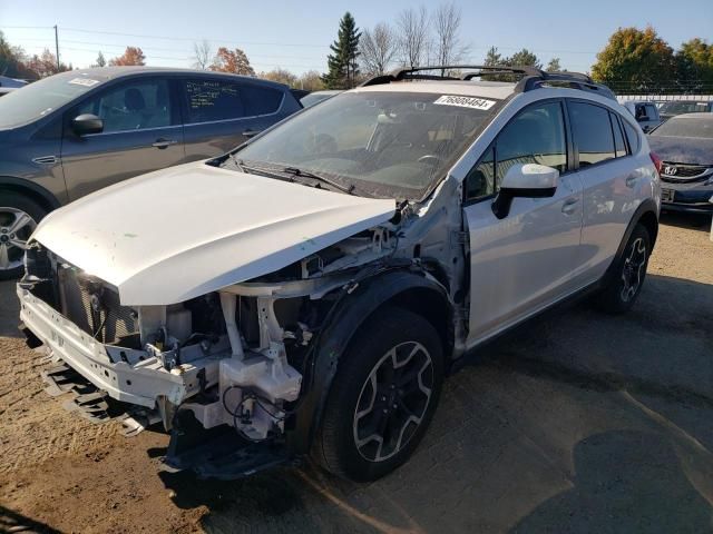
[[628,312],[644,285],[649,256],[648,230],[643,225],[636,225],[624,251],[612,266],[606,286],[595,298],[595,305],[599,310],[613,315]]

